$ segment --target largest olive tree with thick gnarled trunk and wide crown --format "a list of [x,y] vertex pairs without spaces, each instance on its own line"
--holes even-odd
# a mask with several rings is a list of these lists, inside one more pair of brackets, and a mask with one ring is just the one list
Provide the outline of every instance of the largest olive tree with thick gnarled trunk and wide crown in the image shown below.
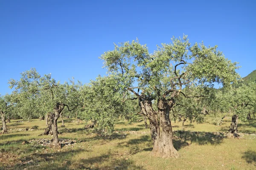
[[141,113],[150,122],[152,153],[161,157],[179,156],[172,143],[169,114],[178,96],[188,97],[184,88],[214,82],[228,86],[239,77],[236,63],[226,59],[217,46],[191,45],[187,36],[173,37],[172,43],[157,46],[153,54],[138,40],[114,44],[114,50],[100,58],[108,74],[120,79],[126,94],[133,93],[138,99]]

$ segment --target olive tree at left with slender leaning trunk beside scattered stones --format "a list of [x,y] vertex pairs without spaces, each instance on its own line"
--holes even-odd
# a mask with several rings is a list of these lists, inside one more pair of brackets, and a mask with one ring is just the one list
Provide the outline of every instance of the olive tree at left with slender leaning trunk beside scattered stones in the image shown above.
[[72,111],[80,106],[79,102],[73,101],[73,84],[56,82],[51,74],[40,76],[35,68],[21,73],[20,80],[11,79],[9,84],[10,88],[15,87],[15,93],[19,94],[18,103],[21,110],[35,112],[38,111],[37,108],[44,108],[45,113],[48,113],[48,127],[44,134],[52,133],[53,147],[61,147],[58,141],[57,120],[65,107]]

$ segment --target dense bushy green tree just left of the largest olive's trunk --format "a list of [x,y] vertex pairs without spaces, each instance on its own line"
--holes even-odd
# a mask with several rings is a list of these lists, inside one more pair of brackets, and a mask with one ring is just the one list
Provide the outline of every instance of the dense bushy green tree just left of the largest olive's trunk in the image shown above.
[[97,124],[97,131],[101,135],[110,135],[119,116],[126,113],[118,80],[113,77],[97,77],[95,81],[84,85],[83,110],[81,117],[92,124]]

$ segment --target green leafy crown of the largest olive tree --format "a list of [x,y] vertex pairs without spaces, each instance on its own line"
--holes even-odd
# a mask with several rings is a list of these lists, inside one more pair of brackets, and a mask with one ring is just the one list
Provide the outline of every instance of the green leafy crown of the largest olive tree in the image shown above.
[[[159,99],[175,99],[174,113],[198,122],[203,121],[201,110],[214,97],[210,92],[212,84],[221,83],[229,88],[231,82],[239,79],[235,71],[237,63],[226,59],[217,46],[191,45],[185,35],[173,37],[170,44],[157,46],[153,54],[137,40],[115,44],[114,50],[105,52],[100,58],[108,74],[119,79],[126,98],[131,93],[134,96],[143,94],[153,106]],[[204,99],[196,96],[204,96],[201,97]]]

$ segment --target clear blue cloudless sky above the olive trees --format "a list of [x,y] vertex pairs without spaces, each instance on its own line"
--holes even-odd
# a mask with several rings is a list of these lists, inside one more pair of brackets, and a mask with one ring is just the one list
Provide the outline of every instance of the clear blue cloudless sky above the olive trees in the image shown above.
[[255,0],[1,0],[0,93],[30,68],[87,83],[105,74],[98,57],[113,42],[136,37],[150,52],[183,34],[218,45],[244,77],[256,69],[255,9]]

